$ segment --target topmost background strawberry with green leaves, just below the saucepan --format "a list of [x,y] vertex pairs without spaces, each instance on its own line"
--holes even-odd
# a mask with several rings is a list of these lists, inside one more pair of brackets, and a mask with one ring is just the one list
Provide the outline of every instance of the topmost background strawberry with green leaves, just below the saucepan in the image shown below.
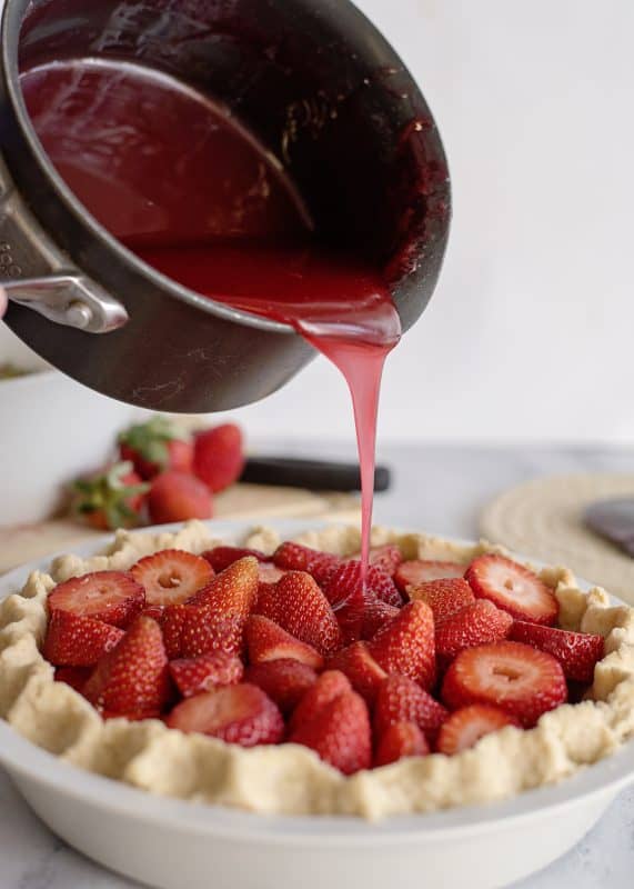
[[167,469],[192,471],[193,444],[167,417],[154,417],[121,432],[119,453],[122,460],[133,463],[143,479],[152,479]]

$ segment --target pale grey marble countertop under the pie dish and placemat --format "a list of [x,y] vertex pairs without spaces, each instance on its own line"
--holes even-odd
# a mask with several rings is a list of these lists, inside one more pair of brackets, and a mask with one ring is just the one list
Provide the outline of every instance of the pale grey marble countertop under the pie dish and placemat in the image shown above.
[[[310,446],[276,442],[266,450],[314,456]],[[351,447],[320,442],[321,459],[350,458]],[[376,500],[382,523],[441,535],[477,536],[482,507],[500,491],[542,475],[624,471],[634,452],[601,449],[465,448],[383,444],[379,459],[393,469],[393,486]],[[567,856],[515,889],[630,889],[634,873],[634,788],[613,803],[597,827]],[[0,771],[0,889],[131,889],[72,851],[30,812]],[[220,889],[220,888],[219,888]],[[222,888],[224,889],[224,888]]]

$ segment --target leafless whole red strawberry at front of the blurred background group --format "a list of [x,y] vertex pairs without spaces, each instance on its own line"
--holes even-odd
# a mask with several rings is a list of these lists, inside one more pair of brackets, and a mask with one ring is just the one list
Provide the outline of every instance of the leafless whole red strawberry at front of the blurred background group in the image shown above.
[[152,479],[148,510],[154,525],[211,519],[213,501],[207,485],[195,476],[168,469]]

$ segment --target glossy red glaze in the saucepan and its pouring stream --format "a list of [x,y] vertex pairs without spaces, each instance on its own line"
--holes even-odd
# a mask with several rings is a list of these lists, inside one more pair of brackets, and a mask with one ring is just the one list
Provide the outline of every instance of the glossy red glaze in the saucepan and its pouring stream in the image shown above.
[[110,232],[199,294],[292,326],[341,371],[361,463],[364,581],[379,389],[401,336],[381,270],[321,243],[271,152],[175,81],[73,60],[36,67],[21,84],[58,172]]

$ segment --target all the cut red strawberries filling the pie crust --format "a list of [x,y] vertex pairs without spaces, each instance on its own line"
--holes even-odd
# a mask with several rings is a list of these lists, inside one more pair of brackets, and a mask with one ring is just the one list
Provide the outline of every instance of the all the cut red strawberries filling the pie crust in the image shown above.
[[344,775],[530,728],[592,682],[602,637],[550,626],[524,566],[372,558],[363,586],[356,560],[295,543],[163,550],[56,587],[43,655],[104,718],[303,745]]

